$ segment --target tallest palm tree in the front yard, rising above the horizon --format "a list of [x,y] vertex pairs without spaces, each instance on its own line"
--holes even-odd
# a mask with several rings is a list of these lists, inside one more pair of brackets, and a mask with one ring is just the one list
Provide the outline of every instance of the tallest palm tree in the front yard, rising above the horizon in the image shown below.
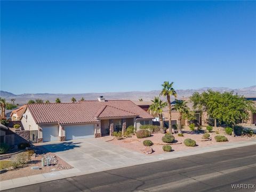
[[172,127],[171,127],[171,122],[172,122],[172,106],[171,106],[171,96],[174,96],[175,98],[177,97],[177,93],[176,91],[173,89],[172,87],[173,82],[169,83],[164,82],[162,84],[162,91],[160,93],[160,95],[163,95],[166,97],[167,99],[167,106],[168,106],[168,113],[169,113],[169,133],[172,134]]

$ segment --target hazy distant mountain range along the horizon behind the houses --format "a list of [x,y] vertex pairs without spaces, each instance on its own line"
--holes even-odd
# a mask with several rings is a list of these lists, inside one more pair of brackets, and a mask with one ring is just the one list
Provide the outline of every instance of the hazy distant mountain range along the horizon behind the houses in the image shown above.
[[[178,98],[186,98],[191,96],[194,92],[202,93],[203,91],[207,91],[208,89],[220,92],[234,91],[234,93],[244,95],[245,97],[256,97],[256,85],[244,87],[242,89],[230,89],[228,87],[203,87],[201,89],[177,90],[177,94]],[[19,105],[22,105],[23,103],[27,103],[30,99],[43,99],[44,101],[49,100],[50,102],[54,102],[56,98],[60,98],[61,102],[70,102],[70,99],[72,97],[76,98],[77,100],[81,99],[82,97],[85,100],[95,100],[100,95],[103,95],[105,99],[130,99],[132,101],[138,101],[138,99],[142,98],[143,101],[149,101],[155,96],[159,95],[159,92],[160,90],[78,94],[23,93],[16,95],[7,91],[0,91],[0,95],[2,98],[5,98],[7,102],[11,102],[11,99],[14,98],[15,103],[19,103]]]

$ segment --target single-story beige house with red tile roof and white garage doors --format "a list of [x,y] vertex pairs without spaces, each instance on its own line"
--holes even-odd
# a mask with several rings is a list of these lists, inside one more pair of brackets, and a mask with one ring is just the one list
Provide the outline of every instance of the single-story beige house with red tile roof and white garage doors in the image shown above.
[[25,130],[34,131],[37,142],[96,138],[133,125],[152,124],[153,116],[130,100],[37,103],[27,105],[21,118]]

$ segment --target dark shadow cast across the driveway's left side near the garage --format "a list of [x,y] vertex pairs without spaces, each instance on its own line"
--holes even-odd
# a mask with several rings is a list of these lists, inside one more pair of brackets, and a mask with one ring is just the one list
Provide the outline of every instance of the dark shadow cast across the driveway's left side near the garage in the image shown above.
[[49,143],[46,145],[38,146],[40,148],[40,152],[41,152],[39,154],[43,154],[46,152],[56,153],[56,152],[60,152],[60,151],[74,149],[74,148],[80,147],[79,143],[81,143],[81,142],[70,141],[70,142],[61,142],[61,143]]

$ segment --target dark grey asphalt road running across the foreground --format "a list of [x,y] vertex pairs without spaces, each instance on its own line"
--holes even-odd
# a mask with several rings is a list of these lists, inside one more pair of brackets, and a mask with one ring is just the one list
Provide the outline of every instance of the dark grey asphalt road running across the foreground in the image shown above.
[[[256,145],[170,159],[9,189],[54,191],[256,191]],[[246,187],[246,186],[245,186]],[[253,187],[253,186],[250,186]]]

